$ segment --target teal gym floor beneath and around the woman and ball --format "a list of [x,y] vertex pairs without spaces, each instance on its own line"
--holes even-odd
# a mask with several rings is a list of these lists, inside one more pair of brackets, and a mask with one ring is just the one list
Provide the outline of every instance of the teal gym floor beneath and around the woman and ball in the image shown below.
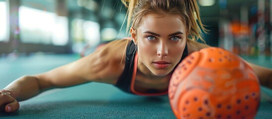
[[[42,73],[79,59],[76,54],[35,54],[0,58],[0,89],[23,75]],[[246,58],[266,67],[266,58]],[[262,87],[262,101],[256,119],[272,119],[272,90]],[[110,84],[90,82],[53,89],[20,102],[14,113],[0,113],[0,119],[175,119],[167,96],[144,97],[124,93]]]

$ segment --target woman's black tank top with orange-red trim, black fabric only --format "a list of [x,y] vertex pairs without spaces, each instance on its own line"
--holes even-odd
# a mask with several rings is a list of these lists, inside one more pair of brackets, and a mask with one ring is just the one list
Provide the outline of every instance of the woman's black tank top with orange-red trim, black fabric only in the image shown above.
[[[119,77],[117,83],[115,84],[115,86],[118,87],[119,89],[121,89],[122,91],[127,92],[127,93],[132,93],[132,94],[135,94],[135,93],[131,92],[131,89],[130,89],[132,74],[134,72],[133,69],[134,69],[135,55],[136,55],[136,46],[133,43],[133,41],[131,40],[126,48],[126,61],[125,61],[124,71],[121,74],[121,76]],[[182,54],[182,57],[181,57],[181,60],[179,61],[179,63],[187,56],[188,56],[188,50],[187,50],[187,45],[185,45],[185,49],[184,49],[184,52]],[[151,90],[146,93],[152,95],[152,94],[158,93],[158,92],[154,92]]]

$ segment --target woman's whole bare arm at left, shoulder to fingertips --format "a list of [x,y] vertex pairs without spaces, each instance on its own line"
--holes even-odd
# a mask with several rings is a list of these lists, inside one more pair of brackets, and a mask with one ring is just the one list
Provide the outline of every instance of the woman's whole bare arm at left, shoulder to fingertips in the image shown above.
[[115,83],[123,70],[120,65],[123,51],[120,48],[125,47],[120,45],[126,45],[126,42],[120,42],[109,43],[87,57],[48,72],[16,79],[4,88],[6,91],[0,92],[0,111],[16,111],[19,109],[17,101],[29,99],[52,88],[69,87],[89,81]]

